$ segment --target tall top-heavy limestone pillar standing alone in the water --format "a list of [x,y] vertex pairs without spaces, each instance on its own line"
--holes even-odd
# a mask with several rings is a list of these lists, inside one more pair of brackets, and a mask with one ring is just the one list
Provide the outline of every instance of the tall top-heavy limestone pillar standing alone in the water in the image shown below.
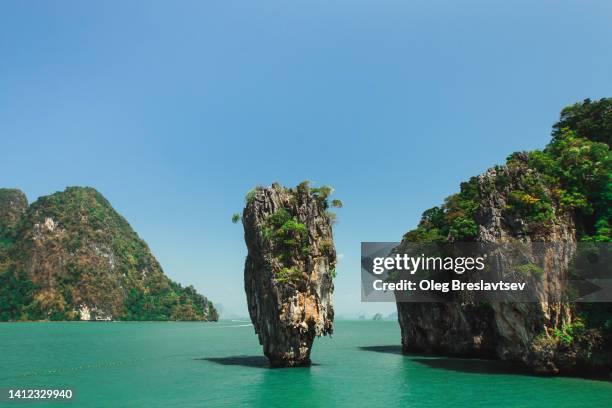
[[333,331],[336,251],[326,199],[305,185],[273,184],[247,196],[245,291],[272,367],[310,365],[314,338]]

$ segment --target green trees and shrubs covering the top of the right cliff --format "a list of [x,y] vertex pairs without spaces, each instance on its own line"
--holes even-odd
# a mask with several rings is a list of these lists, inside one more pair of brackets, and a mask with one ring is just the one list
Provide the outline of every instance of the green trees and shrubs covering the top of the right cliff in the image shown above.
[[[561,112],[553,138],[544,150],[513,153],[497,166],[494,185],[481,186],[507,194],[505,215],[525,222],[528,234],[554,222],[554,208],[576,215],[582,241],[612,240],[612,99],[585,100]],[[485,191],[478,178],[461,183],[460,192],[425,211],[412,242],[472,241],[478,233],[476,214]]]

